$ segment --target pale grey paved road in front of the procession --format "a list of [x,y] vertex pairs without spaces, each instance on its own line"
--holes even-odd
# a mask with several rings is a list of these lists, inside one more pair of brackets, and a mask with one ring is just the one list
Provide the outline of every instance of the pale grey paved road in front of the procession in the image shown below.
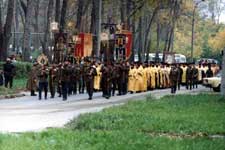
[[[177,94],[194,94],[208,92],[200,86],[193,91],[184,88]],[[170,94],[169,89],[155,90],[145,93],[115,96],[107,100],[101,97],[101,93],[95,93],[93,100],[87,100],[87,94],[71,96],[67,101],[61,98],[39,101],[37,97],[27,96],[0,100],[0,132],[26,132],[41,131],[48,127],[63,127],[74,117],[82,113],[97,112],[106,107],[123,104],[129,100],[141,100],[151,94],[160,98]]]

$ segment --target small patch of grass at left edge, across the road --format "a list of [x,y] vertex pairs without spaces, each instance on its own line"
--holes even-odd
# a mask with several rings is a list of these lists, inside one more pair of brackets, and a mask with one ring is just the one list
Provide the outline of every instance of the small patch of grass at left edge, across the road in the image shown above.
[[8,94],[16,94],[21,90],[26,88],[27,79],[25,78],[15,78],[13,80],[13,87],[12,89],[5,88],[4,86],[0,86],[0,95],[8,95]]

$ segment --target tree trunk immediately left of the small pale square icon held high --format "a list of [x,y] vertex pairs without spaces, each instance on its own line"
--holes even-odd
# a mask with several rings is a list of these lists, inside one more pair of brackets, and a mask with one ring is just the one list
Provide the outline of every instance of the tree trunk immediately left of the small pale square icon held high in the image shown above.
[[47,22],[46,22],[47,26],[45,29],[44,47],[43,47],[43,53],[48,57],[50,57],[48,46],[50,43],[50,23],[51,23],[51,17],[53,16],[53,5],[54,5],[54,0],[49,0],[48,11],[47,11]]

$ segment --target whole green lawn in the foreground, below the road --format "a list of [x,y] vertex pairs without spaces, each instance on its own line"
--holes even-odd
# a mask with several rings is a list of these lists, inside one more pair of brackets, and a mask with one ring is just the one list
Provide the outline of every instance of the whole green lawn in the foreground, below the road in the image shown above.
[[[156,134],[153,134],[156,133]],[[167,134],[160,136],[161,133]],[[195,136],[204,133],[205,136]],[[170,136],[192,135],[191,137]],[[223,150],[225,100],[218,95],[168,96],[81,115],[65,128],[0,135],[1,150]]]

